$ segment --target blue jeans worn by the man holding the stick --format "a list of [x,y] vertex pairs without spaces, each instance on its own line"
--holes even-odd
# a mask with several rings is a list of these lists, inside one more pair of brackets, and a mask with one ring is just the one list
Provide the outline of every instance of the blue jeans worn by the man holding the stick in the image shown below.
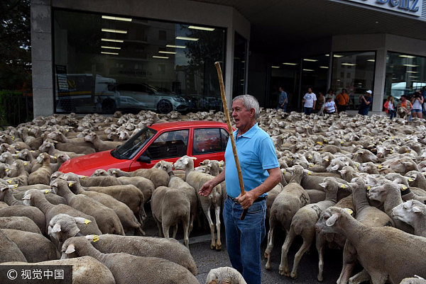
[[223,214],[226,251],[232,267],[243,275],[248,284],[261,284],[261,242],[266,234],[266,200],[253,203],[242,221],[239,220],[241,212],[241,205],[227,197]]

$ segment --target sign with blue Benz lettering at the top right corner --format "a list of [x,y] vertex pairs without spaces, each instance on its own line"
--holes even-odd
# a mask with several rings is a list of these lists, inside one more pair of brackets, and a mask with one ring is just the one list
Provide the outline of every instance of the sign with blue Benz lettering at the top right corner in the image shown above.
[[422,16],[422,0],[346,0],[412,16]]

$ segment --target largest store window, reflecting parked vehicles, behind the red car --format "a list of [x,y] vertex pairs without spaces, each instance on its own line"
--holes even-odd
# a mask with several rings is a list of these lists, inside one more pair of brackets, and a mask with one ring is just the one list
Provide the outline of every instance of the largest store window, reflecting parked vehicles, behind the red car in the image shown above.
[[56,113],[222,108],[223,28],[58,9],[53,34]]

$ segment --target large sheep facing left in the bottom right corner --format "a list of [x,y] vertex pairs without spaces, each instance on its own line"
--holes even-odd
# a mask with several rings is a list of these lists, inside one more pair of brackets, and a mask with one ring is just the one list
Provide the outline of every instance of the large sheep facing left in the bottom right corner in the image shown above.
[[[341,233],[354,245],[373,283],[400,283],[405,277],[426,275],[426,239],[393,227],[368,227],[342,208],[328,208],[317,231]],[[401,253],[403,251],[403,254]],[[407,265],[410,263],[410,265]],[[404,269],[401,269],[401,268]]]

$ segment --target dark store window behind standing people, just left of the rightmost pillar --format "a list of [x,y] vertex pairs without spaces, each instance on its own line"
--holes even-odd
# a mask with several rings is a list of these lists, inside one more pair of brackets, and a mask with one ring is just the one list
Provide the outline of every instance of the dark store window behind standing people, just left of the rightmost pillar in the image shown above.
[[357,110],[359,96],[373,90],[375,62],[376,52],[334,52],[332,89],[336,94],[346,89],[350,98],[348,110]]

